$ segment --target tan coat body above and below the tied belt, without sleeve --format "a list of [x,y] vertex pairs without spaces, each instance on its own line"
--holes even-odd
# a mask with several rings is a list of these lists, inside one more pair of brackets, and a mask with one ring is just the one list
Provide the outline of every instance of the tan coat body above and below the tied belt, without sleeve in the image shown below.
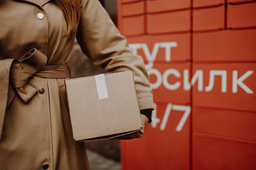
[[[1,0],[0,25],[0,66],[31,48],[44,53],[47,65],[70,59],[74,38],[67,38],[65,18],[52,1]],[[4,86],[9,77],[1,69],[0,87],[10,94],[14,90]],[[64,80],[33,76],[28,83],[38,90],[35,96],[24,103],[16,94],[6,109],[0,169],[89,169],[83,143],[72,138]]]

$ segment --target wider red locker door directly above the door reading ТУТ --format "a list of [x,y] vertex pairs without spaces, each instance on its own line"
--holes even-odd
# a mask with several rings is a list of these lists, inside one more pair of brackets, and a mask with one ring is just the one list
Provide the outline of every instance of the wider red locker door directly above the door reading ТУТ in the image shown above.
[[190,11],[148,14],[147,28],[149,34],[189,31]]

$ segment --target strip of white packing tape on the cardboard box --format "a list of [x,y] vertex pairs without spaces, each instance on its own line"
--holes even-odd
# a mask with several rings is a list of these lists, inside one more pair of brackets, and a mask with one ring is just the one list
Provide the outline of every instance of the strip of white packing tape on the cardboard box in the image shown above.
[[96,82],[99,99],[107,99],[108,98],[108,89],[107,89],[104,74],[99,74],[94,77],[95,77],[95,82]]

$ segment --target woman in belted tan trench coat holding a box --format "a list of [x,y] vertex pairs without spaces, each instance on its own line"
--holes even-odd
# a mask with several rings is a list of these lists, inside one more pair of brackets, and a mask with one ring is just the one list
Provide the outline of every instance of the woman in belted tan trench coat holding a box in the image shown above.
[[153,103],[143,60],[98,0],[2,0],[0,23],[0,169],[89,169],[65,96],[75,37],[106,71],[134,71],[146,127]]

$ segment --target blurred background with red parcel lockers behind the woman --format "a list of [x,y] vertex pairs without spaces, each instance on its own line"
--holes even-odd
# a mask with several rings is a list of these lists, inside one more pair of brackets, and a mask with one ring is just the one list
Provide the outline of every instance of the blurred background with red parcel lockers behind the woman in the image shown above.
[[[92,170],[256,169],[256,1],[100,3],[143,57],[155,110],[141,139],[87,142]],[[104,72],[79,45],[69,65]]]

